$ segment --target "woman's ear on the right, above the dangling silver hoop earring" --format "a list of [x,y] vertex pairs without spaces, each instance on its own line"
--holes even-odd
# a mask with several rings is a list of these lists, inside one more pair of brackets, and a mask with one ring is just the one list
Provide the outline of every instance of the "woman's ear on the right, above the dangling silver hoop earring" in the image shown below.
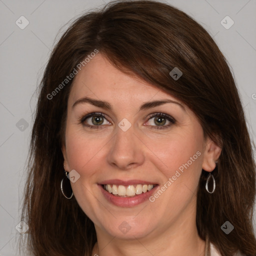
[[202,169],[211,172],[216,166],[215,161],[217,161],[221,153],[221,147],[219,147],[209,137],[207,137],[204,147]]

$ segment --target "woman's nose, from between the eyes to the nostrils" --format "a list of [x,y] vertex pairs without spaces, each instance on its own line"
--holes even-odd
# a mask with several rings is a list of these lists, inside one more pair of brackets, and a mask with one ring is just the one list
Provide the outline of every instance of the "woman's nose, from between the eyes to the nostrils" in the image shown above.
[[107,161],[110,165],[119,170],[128,170],[143,164],[144,144],[134,133],[133,125],[126,131],[116,126],[116,133],[110,143],[107,154]]

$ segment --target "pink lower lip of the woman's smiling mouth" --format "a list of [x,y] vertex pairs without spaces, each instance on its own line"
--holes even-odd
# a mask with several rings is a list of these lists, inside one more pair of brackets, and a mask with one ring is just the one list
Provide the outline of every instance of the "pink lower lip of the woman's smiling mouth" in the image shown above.
[[158,187],[158,185],[154,186],[151,190],[134,195],[133,197],[121,197],[121,196],[115,196],[112,193],[107,192],[102,185],[98,185],[101,189],[104,197],[111,203],[113,203],[116,206],[120,207],[132,207],[135,205],[138,205],[139,203],[144,202],[147,200],[151,194],[155,191],[155,189]]

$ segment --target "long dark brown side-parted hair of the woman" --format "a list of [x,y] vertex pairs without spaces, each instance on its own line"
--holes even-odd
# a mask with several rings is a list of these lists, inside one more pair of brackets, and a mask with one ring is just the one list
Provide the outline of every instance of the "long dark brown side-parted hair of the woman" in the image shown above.
[[[90,256],[96,242],[93,222],[74,197],[67,200],[60,191],[64,175],[61,144],[72,79],[53,98],[47,96],[95,48],[123,72],[184,102],[197,115],[205,136],[222,147],[212,172],[214,193],[204,187],[208,172],[201,173],[198,234],[204,240],[208,235],[222,256],[238,250],[255,256],[255,162],[233,76],[201,25],[177,8],[148,0],[114,1],[85,13],[52,51],[39,88],[22,210],[31,252],[36,256]],[[183,73],[175,81],[169,75],[174,67]],[[220,228],[226,220],[234,226],[228,235]]]

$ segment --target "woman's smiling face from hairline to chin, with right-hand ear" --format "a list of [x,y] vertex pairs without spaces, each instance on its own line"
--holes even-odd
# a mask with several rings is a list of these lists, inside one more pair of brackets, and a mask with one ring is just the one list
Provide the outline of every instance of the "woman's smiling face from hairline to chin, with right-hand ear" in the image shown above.
[[154,237],[195,225],[201,169],[214,169],[217,150],[186,105],[100,53],[74,78],[62,152],[97,235]]

